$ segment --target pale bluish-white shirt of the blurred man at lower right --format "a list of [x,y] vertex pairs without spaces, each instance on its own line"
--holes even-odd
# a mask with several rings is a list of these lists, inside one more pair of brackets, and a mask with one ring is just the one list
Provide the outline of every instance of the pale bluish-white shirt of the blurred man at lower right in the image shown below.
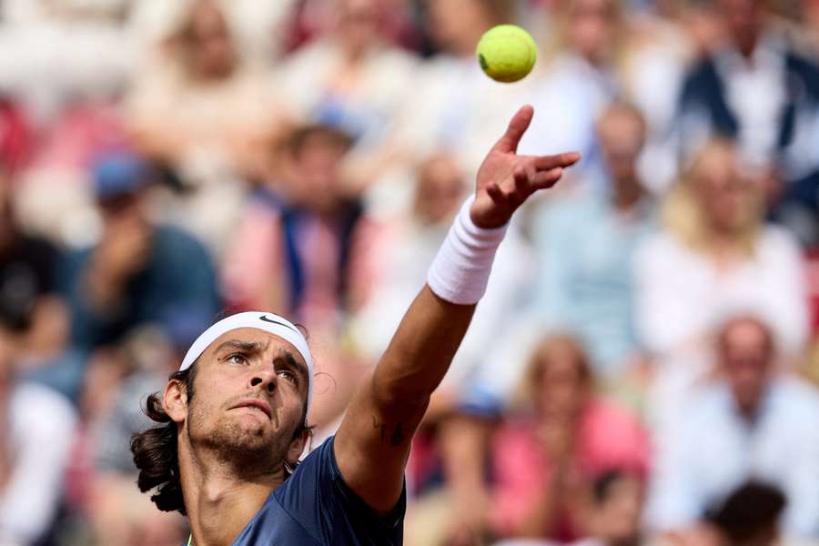
[[786,535],[819,538],[819,394],[796,379],[774,379],[753,423],[723,382],[687,400],[669,450],[655,461],[647,519],[658,530],[685,527],[756,478],[784,491]]

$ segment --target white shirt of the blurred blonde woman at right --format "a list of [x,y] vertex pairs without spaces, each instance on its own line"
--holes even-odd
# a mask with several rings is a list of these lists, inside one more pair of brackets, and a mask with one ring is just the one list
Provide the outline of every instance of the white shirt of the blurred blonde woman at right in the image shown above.
[[753,258],[731,271],[668,233],[645,241],[635,258],[637,328],[662,356],[699,339],[731,315],[753,313],[773,328],[780,349],[795,353],[808,335],[800,250],[778,227],[764,227]]

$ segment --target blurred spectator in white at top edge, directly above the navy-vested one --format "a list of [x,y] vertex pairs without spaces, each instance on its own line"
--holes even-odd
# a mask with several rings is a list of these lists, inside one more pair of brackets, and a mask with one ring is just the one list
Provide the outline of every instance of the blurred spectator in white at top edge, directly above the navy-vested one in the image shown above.
[[416,62],[386,42],[383,0],[329,5],[334,25],[327,35],[298,49],[276,77],[295,116],[356,136],[344,181],[359,190],[403,162],[405,150],[393,138],[416,87]]

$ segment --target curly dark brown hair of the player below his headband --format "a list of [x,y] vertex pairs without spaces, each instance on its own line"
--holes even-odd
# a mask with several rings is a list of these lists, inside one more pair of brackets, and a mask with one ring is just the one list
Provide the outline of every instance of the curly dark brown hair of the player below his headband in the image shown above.
[[[190,368],[171,374],[168,380],[176,379],[187,392],[187,401],[194,398],[194,379],[197,376],[195,360]],[[179,460],[177,453],[177,423],[171,420],[162,404],[162,392],[155,392],[148,396],[145,414],[151,420],[161,423],[160,426],[131,435],[131,453],[134,455],[134,464],[139,474],[136,485],[143,493],[154,490],[151,501],[161,511],[178,511],[187,515],[185,499],[182,497],[182,481],[179,475]],[[312,436],[312,427],[307,423],[307,402],[301,415],[301,426],[298,427],[293,438],[298,438],[305,432]],[[298,462],[297,462],[298,465]],[[285,480],[295,471],[295,468],[285,462]]]

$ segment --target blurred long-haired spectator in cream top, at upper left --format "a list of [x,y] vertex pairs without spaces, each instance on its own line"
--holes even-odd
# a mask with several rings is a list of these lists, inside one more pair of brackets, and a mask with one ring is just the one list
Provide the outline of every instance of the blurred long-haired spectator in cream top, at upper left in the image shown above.
[[150,157],[184,166],[207,154],[244,172],[246,148],[269,136],[281,110],[263,76],[238,56],[217,3],[188,5],[167,36],[165,55],[153,59],[136,82],[130,128]]

